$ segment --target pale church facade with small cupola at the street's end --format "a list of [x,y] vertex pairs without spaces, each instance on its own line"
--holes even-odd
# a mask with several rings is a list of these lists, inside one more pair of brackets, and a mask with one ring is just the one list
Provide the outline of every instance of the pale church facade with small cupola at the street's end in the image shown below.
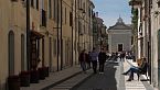
[[108,30],[109,53],[131,50],[131,27],[126,25],[121,18]]

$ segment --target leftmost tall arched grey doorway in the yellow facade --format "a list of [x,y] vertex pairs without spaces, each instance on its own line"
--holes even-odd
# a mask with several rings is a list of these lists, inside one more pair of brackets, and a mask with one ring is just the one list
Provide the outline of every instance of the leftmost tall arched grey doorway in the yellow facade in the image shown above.
[[8,60],[9,60],[9,76],[14,75],[14,33],[9,32],[8,35]]

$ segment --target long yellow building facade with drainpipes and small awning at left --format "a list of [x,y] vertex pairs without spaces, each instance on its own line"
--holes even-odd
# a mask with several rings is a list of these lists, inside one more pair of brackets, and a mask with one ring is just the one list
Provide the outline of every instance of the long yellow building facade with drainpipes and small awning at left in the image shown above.
[[90,0],[0,0],[0,90],[11,76],[78,64],[81,38],[93,47],[93,9]]

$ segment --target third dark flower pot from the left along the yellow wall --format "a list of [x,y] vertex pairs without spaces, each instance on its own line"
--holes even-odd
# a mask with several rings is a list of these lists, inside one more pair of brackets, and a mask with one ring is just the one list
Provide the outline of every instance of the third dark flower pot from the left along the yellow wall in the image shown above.
[[30,71],[30,82],[31,83],[39,83],[39,70],[33,69]]

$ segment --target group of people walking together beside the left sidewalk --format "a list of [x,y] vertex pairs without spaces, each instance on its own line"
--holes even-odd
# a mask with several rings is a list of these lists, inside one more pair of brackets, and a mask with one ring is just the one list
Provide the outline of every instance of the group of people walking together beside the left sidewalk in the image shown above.
[[97,52],[96,48],[93,48],[93,52],[88,54],[84,49],[78,57],[83,71],[86,72],[86,69],[90,68],[92,64],[94,74],[97,74],[97,64],[99,64],[99,74],[104,74],[104,66],[106,59],[107,55],[104,48],[102,48],[100,52]]

